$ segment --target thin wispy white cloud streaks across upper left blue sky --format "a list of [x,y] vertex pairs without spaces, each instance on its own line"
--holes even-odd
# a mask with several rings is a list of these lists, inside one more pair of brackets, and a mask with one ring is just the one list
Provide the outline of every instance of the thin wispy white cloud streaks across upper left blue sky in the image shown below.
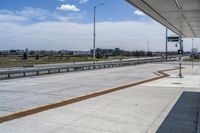
[[0,22],[30,24],[44,21],[71,21],[80,20],[84,16],[84,12],[68,13],[60,15],[56,12],[40,8],[25,7],[21,11],[0,10]]

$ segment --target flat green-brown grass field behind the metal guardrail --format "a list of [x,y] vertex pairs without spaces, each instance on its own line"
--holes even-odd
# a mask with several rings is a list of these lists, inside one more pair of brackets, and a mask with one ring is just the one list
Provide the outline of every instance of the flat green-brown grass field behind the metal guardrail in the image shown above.
[[[97,58],[97,61],[102,60],[122,60],[127,59],[126,56],[110,56],[108,58]],[[130,57],[129,57],[130,58]],[[70,62],[87,62],[93,61],[92,56],[40,56],[36,60],[36,56],[29,56],[27,60],[23,60],[22,56],[8,55],[0,56],[0,68],[6,67],[31,67],[36,64],[55,64],[55,63],[70,63]]]

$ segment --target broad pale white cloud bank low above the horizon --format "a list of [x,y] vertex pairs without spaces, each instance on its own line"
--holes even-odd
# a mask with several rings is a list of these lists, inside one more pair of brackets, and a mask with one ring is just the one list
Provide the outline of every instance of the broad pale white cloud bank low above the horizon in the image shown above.
[[[156,22],[100,22],[96,28],[97,47],[146,50],[148,40],[151,50],[164,50],[164,28]],[[1,49],[92,48],[93,24],[41,22],[21,26],[4,23],[0,25],[0,29],[0,40],[4,44]]]

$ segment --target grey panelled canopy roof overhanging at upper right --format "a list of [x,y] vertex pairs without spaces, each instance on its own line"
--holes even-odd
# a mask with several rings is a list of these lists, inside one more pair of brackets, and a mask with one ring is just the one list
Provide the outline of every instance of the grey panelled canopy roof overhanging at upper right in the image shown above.
[[127,1],[181,37],[200,37],[200,0]]

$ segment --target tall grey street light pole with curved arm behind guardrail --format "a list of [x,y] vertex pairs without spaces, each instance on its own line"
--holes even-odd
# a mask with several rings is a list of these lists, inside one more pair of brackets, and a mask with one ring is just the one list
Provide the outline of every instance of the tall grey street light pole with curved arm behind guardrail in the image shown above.
[[100,3],[94,6],[93,63],[96,62],[96,8],[102,5],[105,5],[105,3]]

